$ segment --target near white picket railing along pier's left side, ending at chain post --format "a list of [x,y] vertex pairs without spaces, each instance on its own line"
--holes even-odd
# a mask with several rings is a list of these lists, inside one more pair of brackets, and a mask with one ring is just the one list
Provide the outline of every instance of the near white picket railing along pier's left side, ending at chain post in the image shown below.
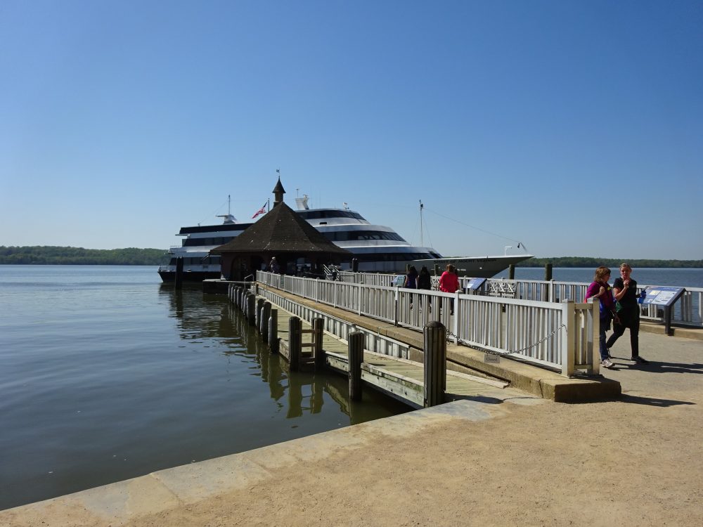
[[[392,275],[391,275],[392,276]],[[598,304],[556,304],[257,272],[257,282],[329,306],[423,330],[439,320],[456,344],[555,368],[598,373]]]

